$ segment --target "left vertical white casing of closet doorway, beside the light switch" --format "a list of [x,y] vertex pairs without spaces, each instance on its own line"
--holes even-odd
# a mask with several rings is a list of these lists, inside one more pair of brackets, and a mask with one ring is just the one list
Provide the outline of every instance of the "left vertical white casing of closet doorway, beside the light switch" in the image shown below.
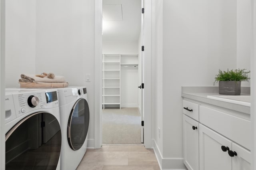
[[102,0],[94,1],[94,77],[94,148],[100,148],[102,145]]

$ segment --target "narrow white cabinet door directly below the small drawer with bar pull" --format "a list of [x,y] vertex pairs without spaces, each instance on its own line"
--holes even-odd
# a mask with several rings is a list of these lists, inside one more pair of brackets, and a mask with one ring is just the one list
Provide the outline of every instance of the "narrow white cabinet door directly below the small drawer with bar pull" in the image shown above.
[[199,169],[198,128],[197,121],[183,115],[183,162],[189,170]]

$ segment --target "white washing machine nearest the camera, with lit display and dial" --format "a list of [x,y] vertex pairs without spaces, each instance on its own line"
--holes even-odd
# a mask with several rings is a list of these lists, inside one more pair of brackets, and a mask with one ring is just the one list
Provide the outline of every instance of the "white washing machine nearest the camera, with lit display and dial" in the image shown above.
[[6,89],[6,170],[60,170],[56,89]]

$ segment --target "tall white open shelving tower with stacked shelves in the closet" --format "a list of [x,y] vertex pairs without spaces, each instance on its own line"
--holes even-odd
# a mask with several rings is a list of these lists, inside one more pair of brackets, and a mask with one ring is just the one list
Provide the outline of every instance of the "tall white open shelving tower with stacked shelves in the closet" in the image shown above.
[[120,54],[102,55],[102,107],[121,109]]

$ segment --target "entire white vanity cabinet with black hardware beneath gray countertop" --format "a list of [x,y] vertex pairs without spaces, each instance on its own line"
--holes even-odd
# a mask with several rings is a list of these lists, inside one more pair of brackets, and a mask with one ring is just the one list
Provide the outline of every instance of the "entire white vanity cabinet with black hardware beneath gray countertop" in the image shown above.
[[250,170],[250,121],[231,112],[183,101],[184,164],[189,170]]

